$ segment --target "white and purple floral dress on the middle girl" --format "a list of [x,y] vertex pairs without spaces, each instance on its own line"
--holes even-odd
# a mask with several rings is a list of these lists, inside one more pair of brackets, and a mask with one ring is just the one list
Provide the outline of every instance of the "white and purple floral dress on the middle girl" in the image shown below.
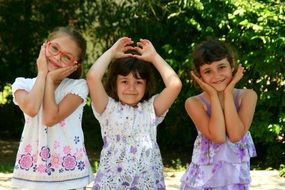
[[153,100],[132,107],[109,98],[102,114],[93,108],[104,141],[94,190],[165,189],[156,128],[166,113],[156,117]]

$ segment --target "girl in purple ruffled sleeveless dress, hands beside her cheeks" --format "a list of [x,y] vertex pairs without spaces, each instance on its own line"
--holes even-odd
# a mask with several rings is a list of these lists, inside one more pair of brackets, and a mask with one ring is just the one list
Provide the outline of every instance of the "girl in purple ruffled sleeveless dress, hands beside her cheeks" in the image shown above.
[[203,92],[185,102],[198,136],[181,189],[249,189],[250,157],[256,156],[249,128],[257,95],[235,88],[244,68],[221,41],[200,43],[192,56],[191,75]]

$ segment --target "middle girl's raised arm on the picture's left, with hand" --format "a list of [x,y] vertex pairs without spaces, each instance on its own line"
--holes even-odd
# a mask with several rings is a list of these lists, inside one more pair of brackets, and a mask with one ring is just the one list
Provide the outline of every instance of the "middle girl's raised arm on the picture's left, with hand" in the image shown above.
[[113,59],[130,56],[126,51],[132,50],[131,38],[120,38],[110,49],[103,53],[91,66],[87,73],[87,84],[90,90],[92,105],[96,112],[103,113],[108,103],[108,95],[104,89],[102,78]]

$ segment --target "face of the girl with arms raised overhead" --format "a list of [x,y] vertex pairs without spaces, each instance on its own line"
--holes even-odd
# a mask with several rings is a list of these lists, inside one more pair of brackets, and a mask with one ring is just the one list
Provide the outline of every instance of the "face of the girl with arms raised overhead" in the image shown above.
[[118,75],[116,83],[117,94],[122,104],[136,106],[145,94],[145,80],[135,78],[133,73],[127,76]]

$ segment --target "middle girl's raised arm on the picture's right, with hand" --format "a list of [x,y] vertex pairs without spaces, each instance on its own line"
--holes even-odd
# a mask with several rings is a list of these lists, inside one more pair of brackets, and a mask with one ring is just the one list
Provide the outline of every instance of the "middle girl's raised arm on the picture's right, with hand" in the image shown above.
[[141,39],[137,43],[136,51],[140,55],[134,55],[138,59],[148,61],[154,65],[162,77],[165,88],[154,100],[154,109],[157,116],[161,116],[177,98],[182,88],[182,83],[175,71],[156,52],[149,40]]

